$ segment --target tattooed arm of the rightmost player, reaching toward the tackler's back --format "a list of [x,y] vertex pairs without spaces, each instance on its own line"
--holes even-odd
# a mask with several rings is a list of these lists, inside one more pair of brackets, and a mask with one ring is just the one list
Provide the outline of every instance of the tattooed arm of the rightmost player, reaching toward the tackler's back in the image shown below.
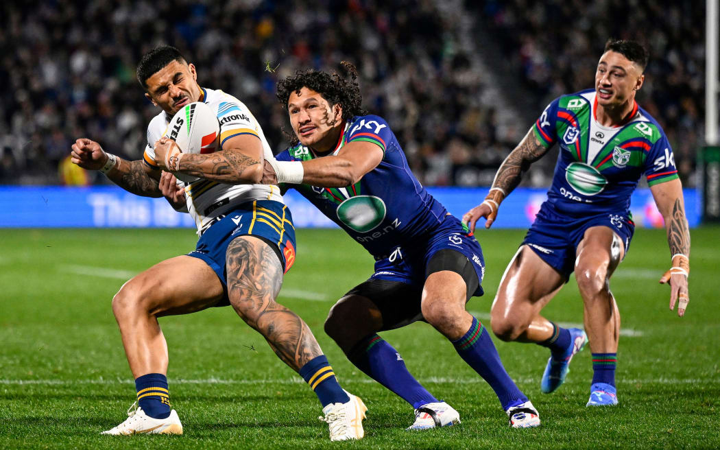
[[531,128],[525,138],[520,141],[518,146],[510,152],[503,164],[500,165],[485,200],[462,216],[462,221],[469,225],[471,232],[474,233],[475,224],[477,220],[480,220],[480,217],[487,219],[485,228],[490,228],[492,222],[495,222],[495,217],[498,217],[500,203],[513,189],[518,187],[523,178],[523,173],[530,168],[532,163],[542,158],[547,153],[547,150],[549,150],[549,147],[545,147],[535,137],[535,133]]

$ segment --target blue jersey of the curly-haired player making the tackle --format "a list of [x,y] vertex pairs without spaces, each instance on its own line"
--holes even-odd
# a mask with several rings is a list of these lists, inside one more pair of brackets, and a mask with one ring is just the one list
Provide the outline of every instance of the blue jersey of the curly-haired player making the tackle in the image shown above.
[[[340,188],[289,184],[330,220],[340,225],[373,256],[423,238],[445,220],[448,212],[410,171],[405,153],[382,117],[356,116],[348,120],[336,148],[354,141],[373,143],[384,156],[379,165],[352,186]],[[326,153],[328,154],[328,153]],[[298,144],[276,156],[278,161],[308,161],[319,156]]]

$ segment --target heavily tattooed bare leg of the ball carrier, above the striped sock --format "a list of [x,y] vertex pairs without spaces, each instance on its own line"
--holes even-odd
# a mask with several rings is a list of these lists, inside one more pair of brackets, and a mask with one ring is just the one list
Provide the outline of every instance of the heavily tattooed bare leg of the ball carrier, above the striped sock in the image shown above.
[[282,285],[282,266],[266,243],[256,238],[233,240],[228,246],[227,270],[230,304],[285,364],[297,372],[323,354],[307,324],[275,302]]

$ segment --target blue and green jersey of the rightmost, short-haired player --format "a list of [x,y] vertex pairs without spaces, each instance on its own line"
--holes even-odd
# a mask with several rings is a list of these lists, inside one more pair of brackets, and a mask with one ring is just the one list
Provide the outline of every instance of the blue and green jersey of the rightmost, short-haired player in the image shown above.
[[564,95],[532,128],[546,148],[560,146],[547,197],[564,214],[628,211],[643,174],[650,186],[678,178],[665,132],[644,109],[635,104],[622,125],[603,127],[597,107],[593,89]]

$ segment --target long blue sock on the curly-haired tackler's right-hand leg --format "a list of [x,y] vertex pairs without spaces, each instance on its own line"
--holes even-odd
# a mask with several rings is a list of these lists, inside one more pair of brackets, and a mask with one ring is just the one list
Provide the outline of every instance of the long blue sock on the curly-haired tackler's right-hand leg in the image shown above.
[[504,410],[528,401],[505,372],[498,350],[480,320],[472,318],[467,333],[452,343],[460,357],[490,384]]

